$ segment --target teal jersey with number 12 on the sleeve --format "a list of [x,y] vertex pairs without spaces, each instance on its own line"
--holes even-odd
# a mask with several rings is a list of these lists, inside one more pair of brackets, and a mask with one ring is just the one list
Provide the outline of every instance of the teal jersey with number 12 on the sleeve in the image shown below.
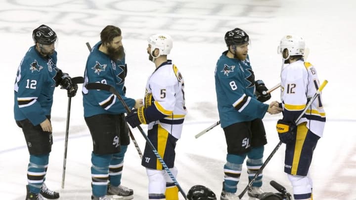
[[14,86],[15,120],[28,119],[38,125],[50,116],[53,103],[53,92],[56,86],[55,77],[57,52],[43,57],[30,47],[17,70]]

